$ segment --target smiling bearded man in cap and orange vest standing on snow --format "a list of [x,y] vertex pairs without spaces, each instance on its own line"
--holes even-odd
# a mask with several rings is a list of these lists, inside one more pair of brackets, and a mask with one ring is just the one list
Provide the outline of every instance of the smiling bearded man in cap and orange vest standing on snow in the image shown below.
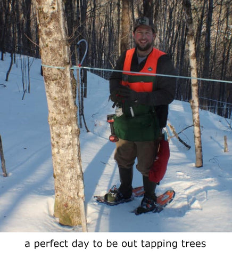
[[176,79],[165,76],[175,75],[175,69],[167,55],[153,47],[156,30],[152,21],[147,17],[138,18],[133,36],[135,48],[122,53],[115,66],[115,70],[123,70],[123,73],[114,71],[110,78],[110,98],[118,108],[114,130],[119,141],[114,158],[121,185],[109,191],[105,199],[111,202],[131,199],[133,165],[137,157],[136,167],[143,175],[145,190],[138,210],[148,212],[154,210],[156,203],[156,183],[148,176],[158,151],[162,127],[167,124],[168,105],[175,96]]

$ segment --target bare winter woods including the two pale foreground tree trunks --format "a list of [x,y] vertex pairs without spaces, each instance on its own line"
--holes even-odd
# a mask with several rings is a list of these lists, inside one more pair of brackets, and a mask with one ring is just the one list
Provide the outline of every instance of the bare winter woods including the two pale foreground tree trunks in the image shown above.
[[[158,29],[155,46],[168,53],[179,76],[176,99],[189,101],[195,114],[196,153],[202,153],[198,108],[231,118],[231,83],[222,82],[232,79],[231,0],[193,0],[188,6],[190,16],[187,2],[190,3],[171,0],[65,3],[3,0],[0,3],[1,59],[4,60],[5,52],[11,53],[11,65],[15,54],[42,59],[55,179],[54,215],[63,225],[86,223],[85,215],[81,215],[85,209],[75,103],[77,83],[70,69],[78,66],[85,55],[86,47],[78,43],[82,39],[88,43],[82,65],[89,70],[107,69],[95,70],[107,79],[119,54],[133,45],[131,30],[135,18],[142,14],[153,17]],[[197,77],[217,82],[197,81]],[[196,166],[202,166],[201,158],[197,158]]]

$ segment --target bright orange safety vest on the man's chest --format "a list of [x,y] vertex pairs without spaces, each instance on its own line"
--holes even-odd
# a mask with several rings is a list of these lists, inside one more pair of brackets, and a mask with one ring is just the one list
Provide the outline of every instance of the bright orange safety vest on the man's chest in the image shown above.
[[[152,92],[153,91],[153,82],[155,81],[156,67],[158,59],[161,55],[166,53],[153,48],[152,52],[148,55],[145,66],[139,73],[146,74],[135,74],[128,73],[131,67],[132,57],[135,53],[135,48],[130,49],[126,52],[126,58],[123,65],[122,81],[121,84],[129,86],[130,89],[136,92]],[[152,74],[151,76],[149,74]]]

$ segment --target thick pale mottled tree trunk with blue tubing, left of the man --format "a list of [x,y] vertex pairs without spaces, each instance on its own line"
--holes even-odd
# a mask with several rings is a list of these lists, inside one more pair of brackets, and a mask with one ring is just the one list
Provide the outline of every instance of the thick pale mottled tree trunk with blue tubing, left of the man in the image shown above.
[[54,215],[62,225],[82,223],[83,231],[87,231],[77,106],[63,1],[37,0],[37,15],[51,132]]

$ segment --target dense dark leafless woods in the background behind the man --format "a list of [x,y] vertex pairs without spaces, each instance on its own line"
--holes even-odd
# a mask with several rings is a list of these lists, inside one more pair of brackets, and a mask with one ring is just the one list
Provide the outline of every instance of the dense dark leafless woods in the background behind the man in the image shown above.
[[[198,77],[232,79],[232,0],[192,0]],[[190,76],[187,28],[182,1],[65,1],[72,64],[80,39],[88,42],[84,66],[112,69],[121,51],[131,47],[131,26],[149,10],[158,27],[156,47],[167,52],[178,76]],[[127,13],[127,14],[125,14]],[[146,13],[147,14],[147,13]],[[3,0],[0,3],[0,50],[40,58],[35,0]],[[123,26],[123,30],[121,29]],[[125,33],[125,35],[123,34]],[[125,43],[123,43],[125,41]],[[84,54],[84,46],[80,54]],[[109,78],[109,71],[95,71]],[[231,83],[199,81],[200,107],[231,117]],[[176,99],[189,101],[190,79],[179,78]]]

